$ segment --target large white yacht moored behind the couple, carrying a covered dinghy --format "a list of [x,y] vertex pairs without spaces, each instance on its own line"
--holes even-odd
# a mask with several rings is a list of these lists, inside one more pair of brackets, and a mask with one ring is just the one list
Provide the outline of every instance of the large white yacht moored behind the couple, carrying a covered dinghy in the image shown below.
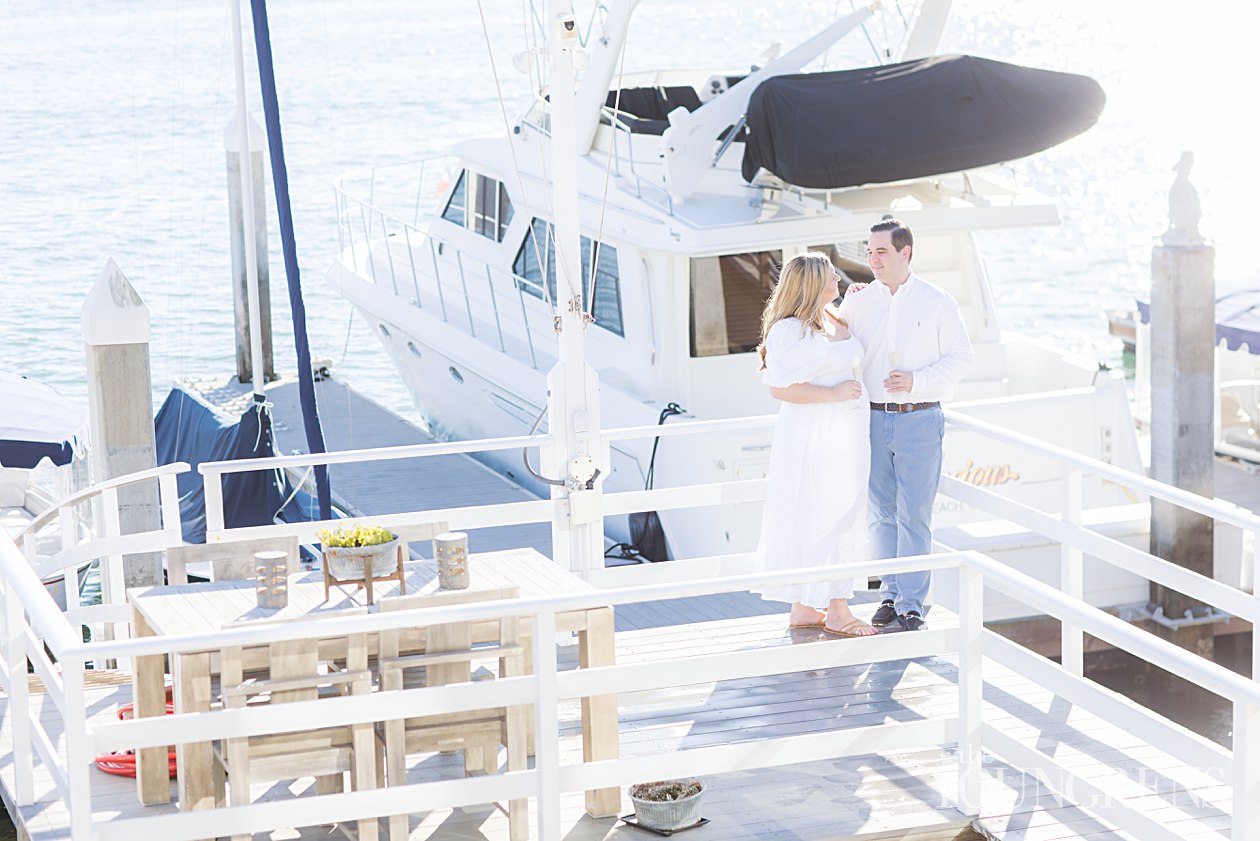
[[[995,164],[1091,125],[1102,106],[1092,79],[969,57],[925,59],[948,4],[924,4],[903,62],[892,66],[800,73],[871,14],[861,11],[762,68],[619,76],[634,5],[615,5],[605,32],[587,38],[591,64],[577,93],[586,353],[598,372],[602,426],[668,422],[670,406],[697,419],[774,412],[753,348],[776,267],[822,250],[848,279],[868,280],[869,227],[895,214],[915,232],[915,271],[958,299],[975,345],[975,366],[954,406],[1142,470],[1123,380],[1100,373],[1094,361],[1004,334],[974,236],[1057,222],[1051,203],[1022,197]],[[950,77],[951,68],[969,81]],[[890,146],[896,125],[885,125],[882,112],[879,126],[862,127],[873,122],[876,103],[863,98],[872,84],[885,86],[874,88],[879,96],[901,97],[888,107],[920,121],[917,140]],[[1017,97],[1000,96],[1009,86],[1024,87]],[[1060,93],[1066,96],[1053,98]],[[1003,100],[1027,111],[1000,113]],[[548,108],[539,88],[504,136],[467,140],[450,158],[357,173],[338,184],[341,251],[329,279],[374,325],[420,411],[444,436],[520,435],[546,420],[559,305]],[[1060,125],[1022,136],[1022,122],[1055,113],[1063,117]],[[793,132],[781,131],[785,115]],[[813,136],[801,125],[835,135],[827,139],[834,145],[801,142]],[[994,137],[999,142],[973,154]],[[649,475],[655,487],[761,477],[770,435],[766,427],[699,443],[662,439],[654,456],[650,440],[615,444],[604,487],[641,489]],[[543,489],[519,454],[485,458]],[[965,430],[948,434],[945,472],[1051,509],[1060,499],[1057,465]],[[1144,546],[1147,521],[1135,508],[1142,502],[1102,480],[1084,488],[1097,527]],[[748,551],[760,503],[660,518],[672,556]],[[1046,577],[1038,552],[1048,542],[978,519],[989,517],[942,501],[939,537]],[[606,526],[612,540],[630,536],[625,522]],[[1104,572],[1091,580],[1091,599],[1144,601],[1145,588],[1137,576]],[[1000,615],[1000,608],[988,614]]]

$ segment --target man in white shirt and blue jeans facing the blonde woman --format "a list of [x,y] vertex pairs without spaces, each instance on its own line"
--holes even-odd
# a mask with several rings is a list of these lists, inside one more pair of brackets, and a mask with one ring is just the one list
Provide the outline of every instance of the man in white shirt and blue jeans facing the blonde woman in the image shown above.
[[[932,501],[941,478],[945,419],[975,353],[949,293],[915,275],[915,238],[897,219],[871,227],[867,264],[876,281],[852,291],[840,315],[866,348],[863,387],[871,401],[871,551],[873,557],[927,555]],[[924,628],[931,572],[883,576],[871,622]]]

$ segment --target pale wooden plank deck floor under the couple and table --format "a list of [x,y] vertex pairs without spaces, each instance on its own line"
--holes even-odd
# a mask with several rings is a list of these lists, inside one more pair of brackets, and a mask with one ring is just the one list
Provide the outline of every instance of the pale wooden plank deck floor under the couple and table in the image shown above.
[[[651,605],[645,605],[651,606]],[[624,610],[627,617],[631,608]],[[867,608],[869,610],[869,606]],[[934,627],[956,619],[935,609]],[[742,651],[755,647],[819,644],[878,646],[879,641],[848,641],[815,632],[789,632],[784,617],[760,615],[701,620],[688,624],[620,630],[617,662],[645,662],[692,653]],[[568,659],[576,652],[567,649]],[[568,666],[573,663],[570,662]],[[1227,838],[1230,789],[1220,780],[1181,763],[1176,757],[1142,744],[1120,728],[1055,697],[1019,675],[994,662],[984,662],[984,720],[1037,750],[1070,758],[1074,769],[1115,798],[1139,803],[1152,818],[1174,828],[1184,838]],[[98,685],[88,690],[94,720],[108,719],[130,700],[129,685]],[[40,695],[33,695],[42,704]],[[956,667],[951,658],[932,657],[788,673],[670,690],[622,695],[620,699],[621,751],[651,755],[712,744],[756,740],[786,734],[808,734],[950,716],[956,704]],[[52,705],[42,715],[55,725]],[[580,712],[576,704],[561,710],[562,762],[581,759]],[[0,783],[11,809],[11,722],[0,697]],[[1081,806],[1058,799],[1032,775],[985,757],[984,811],[976,822],[980,836],[953,808],[955,763],[953,749],[931,748],[895,755],[864,755],[815,762],[767,770],[706,775],[704,813],[711,823],[689,831],[688,841],[765,838],[824,841],[842,838],[989,837],[1002,841],[1090,838],[1142,841],[1116,831],[1105,820],[1105,802]],[[142,807],[132,780],[93,773],[93,812],[97,821],[117,816],[156,815],[174,807]],[[460,773],[459,760],[435,755],[415,768],[415,780]],[[296,793],[314,786],[302,780]],[[33,840],[68,837],[68,815],[47,777],[37,770],[37,803],[20,813],[20,830]],[[256,796],[290,796],[280,787]],[[630,804],[624,802],[624,812]],[[582,813],[582,796],[563,802],[562,822],[567,841],[654,837]],[[620,827],[620,828],[619,828]],[[329,827],[280,831],[273,838],[321,838]],[[507,820],[494,808],[449,809],[412,817],[411,838],[507,838]]]

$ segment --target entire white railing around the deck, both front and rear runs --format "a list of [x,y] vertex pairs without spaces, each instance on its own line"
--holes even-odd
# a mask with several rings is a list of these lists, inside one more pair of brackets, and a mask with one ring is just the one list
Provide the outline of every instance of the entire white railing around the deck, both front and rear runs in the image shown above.
[[[1011,444],[1026,446],[1041,455],[1058,459],[1065,465],[1065,485],[1067,488],[1065,493],[1068,498],[1072,494],[1072,485],[1079,487],[1080,474],[1089,472],[1113,482],[1140,488],[1157,498],[1183,504],[1187,508],[1252,532],[1260,528],[1260,518],[1241,512],[1227,503],[1207,501],[1176,488],[1160,485],[1145,477],[1120,470],[1114,465],[1033,441],[1009,430],[960,416],[956,412],[951,412],[949,420],[955,426],[990,435]],[[733,421],[683,422],[665,427],[643,426],[606,430],[604,438],[607,445],[607,443],[614,440],[743,429],[766,425],[771,421],[772,419],[770,417],[757,417]],[[265,533],[281,532],[299,533],[300,536],[312,538],[312,532],[319,526],[318,523],[306,523],[297,526],[224,528],[222,521],[222,477],[228,473],[387,458],[423,458],[476,450],[544,446],[547,444],[549,444],[547,436],[522,436],[507,440],[430,444],[359,453],[278,456],[253,463],[203,464],[202,473],[207,479],[208,535],[212,540],[220,541],[244,540]],[[179,514],[178,507],[171,502],[174,493],[170,493],[170,489],[174,487],[174,475],[183,469],[186,468],[173,465],[171,468],[149,472],[144,475],[144,480],[158,478],[159,482],[165,480],[166,483],[163,489],[165,527],[161,532],[123,536],[121,538],[116,535],[107,536],[103,538],[106,542],[101,545],[107,547],[110,552],[123,555],[135,551],[158,551],[179,542]],[[130,478],[130,480],[136,479]],[[118,480],[110,488],[98,488],[94,492],[103,498],[106,493],[116,492],[126,482],[127,479]],[[733,499],[761,498],[764,497],[764,482],[735,482],[699,488],[668,488],[653,492],[606,494],[605,511],[615,513],[646,508],[664,509],[721,504]],[[827,664],[837,666],[847,662],[953,653],[958,656],[959,661],[960,702],[956,716],[945,719],[944,722],[924,722],[921,725],[916,724],[912,728],[898,724],[896,729],[887,731],[852,730],[825,738],[811,736],[805,740],[772,740],[775,745],[774,755],[779,757],[782,762],[804,762],[810,758],[868,753],[872,745],[871,739],[876,739],[882,745],[881,749],[885,749],[883,746],[887,746],[887,749],[901,749],[903,746],[912,746],[911,743],[917,744],[924,740],[927,740],[925,744],[951,744],[956,741],[960,746],[959,803],[968,813],[976,815],[983,806],[978,764],[982,750],[1000,755],[1017,768],[1034,770],[1065,793],[1092,796],[1094,792],[1090,784],[1076,777],[1070,767],[1057,764],[1051,758],[1016,743],[999,729],[982,724],[979,715],[979,688],[983,682],[983,654],[994,662],[1018,670],[1036,683],[1104,717],[1118,720],[1123,716],[1126,728],[1134,733],[1139,733],[1144,739],[1148,739],[1162,750],[1169,750],[1174,755],[1202,769],[1218,769],[1223,782],[1231,783],[1235,792],[1231,837],[1249,838],[1251,841],[1260,838],[1260,815],[1257,815],[1260,812],[1260,802],[1257,802],[1260,801],[1260,686],[1215,663],[1192,656],[1110,614],[1084,604],[1081,593],[1071,590],[1077,588],[1082,577],[1079,566],[1082,564],[1081,556],[1089,554],[1108,564],[1123,564],[1126,569],[1139,571],[1150,580],[1166,584],[1208,604],[1218,605],[1234,615],[1245,617],[1260,625],[1260,622],[1256,622],[1260,619],[1260,612],[1257,612],[1252,596],[1085,530],[1080,526],[1079,514],[1071,506],[1067,506],[1061,516],[1047,514],[1005,499],[993,492],[949,478],[942,483],[942,492],[961,502],[992,511],[1000,517],[1021,522],[1028,528],[1058,540],[1065,547],[1065,581],[1068,583],[1070,591],[1062,591],[1057,588],[1041,584],[975,552],[945,554],[924,559],[900,559],[896,561],[881,560],[829,570],[798,570],[774,575],[726,575],[724,577],[708,580],[694,577],[703,574],[701,570],[714,569],[714,561],[717,561],[716,569],[722,572],[738,569],[741,564],[747,561],[746,556],[727,556],[723,559],[692,559],[646,567],[626,567],[633,570],[633,575],[635,576],[659,576],[656,579],[658,583],[654,584],[620,590],[604,590],[581,596],[557,596],[513,603],[510,609],[503,605],[486,604],[427,610],[416,615],[372,614],[364,617],[341,617],[321,623],[319,634],[324,635],[329,632],[340,633],[343,630],[345,633],[370,632],[389,627],[402,627],[393,623],[415,623],[421,620],[452,622],[486,618],[510,610],[510,613],[519,612],[520,614],[532,615],[536,623],[536,638],[547,639],[549,638],[548,630],[554,628],[554,614],[557,612],[572,610],[583,605],[630,604],[653,599],[724,593],[743,590],[753,584],[814,581],[829,577],[887,574],[896,570],[924,567],[935,570],[958,569],[960,576],[960,614],[963,618],[961,629],[958,632],[881,637],[878,643],[853,641],[858,643],[856,646],[793,647],[788,653],[776,649],[765,653],[755,651],[740,652],[737,657],[732,654],[712,654],[704,659],[688,657],[685,662],[670,661],[664,667],[660,663],[651,664],[650,668],[645,664],[624,664],[590,671],[566,672],[563,675],[557,673],[553,657],[548,658],[536,654],[538,659],[534,663],[536,673],[532,677],[503,680],[493,687],[478,685],[476,687],[417,690],[417,692],[430,692],[423,696],[426,709],[442,711],[447,709],[467,709],[475,704],[503,706],[504,704],[536,702],[548,699],[587,697],[596,693],[605,695],[610,691],[634,692],[659,688],[679,682],[689,683],[697,680],[728,680],[779,673],[798,668],[819,668]],[[562,502],[539,501],[534,503],[496,506],[486,509],[469,508],[447,509],[444,512],[412,512],[391,517],[397,518],[398,525],[431,522],[433,519],[449,519],[452,523],[460,522],[456,517],[451,517],[451,512],[454,511],[457,517],[465,518],[465,523],[489,526],[503,525],[504,522],[548,521],[562,512]],[[393,519],[387,517],[375,517],[374,519],[386,525],[394,525]],[[470,526],[465,525],[461,527]],[[307,532],[311,533],[307,535]],[[130,538],[135,540],[129,542]],[[81,550],[81,552],[83,555],[73,554],[64,557],[69,564],[74,559],[89,555],[92,550]],[[98,554],[103,555],[105,552],[98,551]],[[410,804],[408,808],[421,809],[425,808],[426,803],[436,807],[438,804],[480,803],[519,796],[553,798],[564,791],[624,784],[646,775],[757,768],[765,767],[767,763],[774,764],[780,762],[780,759],[766,759],[770,751],[760,748],[766,744],[764,741],[757,743],[752,748],[747,745],[726,745],[680,751],[665,758],[654,757],[650,763],[651,773],[646,773],[646,762],[636,758],[561,765],[553,753],[544,753],[533,772],[520,772],[475,780],[422,783],[382,792],[352,792],[348,794],[304,798],[300,807],[297,804],[277,802],[214,809],[197,815],[146,816],[129,821],[115,821],[93,828],[91,815],[92,782],[88,767],[91,757],[94,753],[117,748],[156,748],[180,740],[188,741],[194,738],[198,741],[204,741],[224,735],[278,731],[286,726],[280,719],[287,719],[292,715],[294,720],[300,720],[300,715],[297,715],[300,710],[296,706],[289,706],[284,711],[284,715],[265,710],[232,710],[200,714],[195,716],[195,721],[194,716],[176,715],[130,722],[93,724],[88,728],[84,712],[84,673],[88,663],[94,664],[106,659],[117,659],[126,663],[136,656],[171,654],[194,649],[204,651],[205,648],[231,642],[239,643],[246,638],[251,643],[261,643],[273,638],[295,637],[301,632],[294,632],[292,629],[277,625],[248,630],[223,630],[215,634],[197,637],[159,637],[83,643],[77,632],[79,623],[89,620],[126,623],[130,618],[130,612],[120,604],[106,604],[98,608],[79,608],[73,614],[63,615],[40,585],[35,570],[25,562],[19,562],[23,560],[21,555],[16,546],[9,542],[8,538],[0,538],[0,556],[3,556],[4,561],[0,564],[0,586],[3,586],[4,591],[3,681],[14,722],[13,762],[16,769],[15,779],[19,780],[15,797],[19,804],[29,804],[32,799],[32,786],[29,782],[32,774],[28,772],[33,768],[34,757],[38,755],[40,762],[50,769],[53,782],[71,809],[73,837],[76,838],[121,838],[130,837],[141,831],[158,833],[163,837],[200,837],[209,833],[228,835],[232,832],[291,826],[299,822],[348,821],[354,817],[388,815],[397,808],[399,799],[407,802]],[[1074,566],[1076,569],[1071,569]],[[107,576],[118,576],[121,575],[121,570],[116,565],[108,564],[103,574]],[[665,580],[677,579],[678,576],[683,576],[683,580]],[[601,583],[605,584],[626,580],[630,579],[617,577],[614,570],[606,571],[601,577]],[[1057,617],[1066,629],[1065,666],[1045,661],[1003,641],[995,634],[983,630],[980,617],[983,615],[984,588],[992,588],[1008,598],[1027,604],[1037,612]],[[1162,716],[1142,710],[1131,702],[1124,701],[1119,696],[1097,687],[1095,683],[1082,680],[1075,654],[1068,654],[1070,646],[1076,644],[1082,633],[1104,639],[1137,654],[1149,663],[1173,671],[1231,700],[1235,705],[1234,749],[1225,750],[1206,739],[1187,734]],[[45,653],[45,647],[47,652],[50,652],[50,656]],[[537,647],[536,652],[542,649],[543,647]],[[48,686],[48,697],[62,712],[62,719],[67,729],[64,757],[54,748],[53,736],[39,724],[38,716],[32,711],[25,681],[20,680],[24,677],[24,667],[28,661]],[[433,701],[432,706],[427,704],[430,699]],[[408,705],[413,705],[417,700],[420,700],[417,695],[407,693],[389,697],[382,695],[382,697],[339,699],[333,701],[331,706],[320,707],[321,720],[333,724],[386,720],[391,715],[403,715],[406,710],[413,710],[413,706]],[[324,704],[329,702],[324,701]],[[536,704],[537,710],[543,710],[539,714],[542,717],[537,722],[539,725],[538,733],[554,731],[554,706],[551,706],[549,712],[546,711],[547,707],[547,704]],[[325,712],[334,717],[328,719],[324,716]],[[296,725],[287,726],[289,729],[295,729]],[[522,794],[523,792],[524,794]],[[1102,792],[1100,794],[1106,793]],[[1105,804],[1108,820],[1114,821],[1121,828],[1139,837],[1173,837],[1166,827],[1155,825],[1140,809],[1110,799],[1101,802]],[[556,811],[541,809],[539,812],[546,815],[544,825],[539,826],[539,837],[557,837],[558,825],[556,823]]]

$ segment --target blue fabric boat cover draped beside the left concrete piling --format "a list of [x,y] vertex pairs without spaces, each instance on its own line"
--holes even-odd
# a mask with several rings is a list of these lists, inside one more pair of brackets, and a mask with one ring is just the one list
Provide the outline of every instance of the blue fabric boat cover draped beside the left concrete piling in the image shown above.
[[[193,469],[179,477],[179,513],[184,540],[205,542],[205,488],[197,467],[202,461],[262,459],[276,455],[271,411],[249,406],[239,420],[219,414],[195,395],[175,387],[154,420],[158,463],[188,461]],[[282,470],[233,473],[223,478],[223,522],[228,528],[270,526],[289,497]],[[297,519],[295,516],[286,519]]]

